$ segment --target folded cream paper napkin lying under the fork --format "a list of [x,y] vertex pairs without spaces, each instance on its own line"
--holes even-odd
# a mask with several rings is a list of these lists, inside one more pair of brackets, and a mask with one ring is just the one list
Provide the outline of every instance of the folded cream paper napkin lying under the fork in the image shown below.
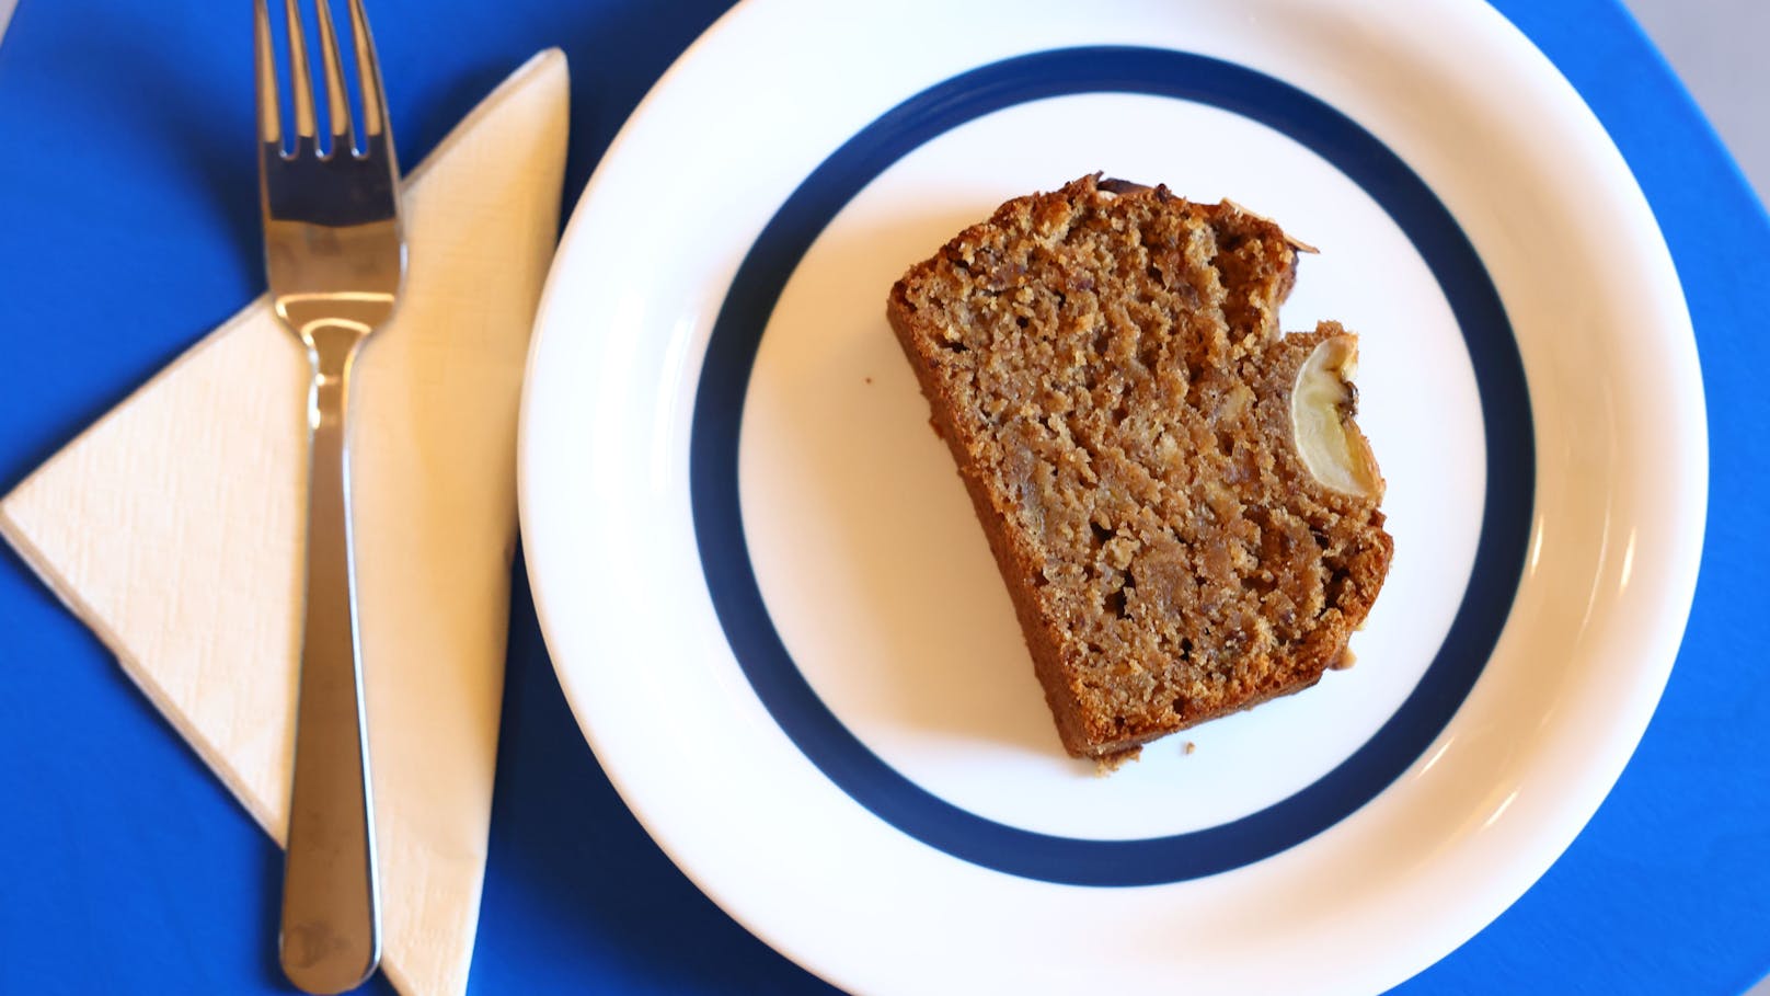
[[[545,51],[412,170],[405,291],[352,385],[381,964],[412,994],[467,987],[517,532],[517,392],[565,140],[566,62]],[[308,376],[258,300],[0,502],[7,541],[276,840]]]

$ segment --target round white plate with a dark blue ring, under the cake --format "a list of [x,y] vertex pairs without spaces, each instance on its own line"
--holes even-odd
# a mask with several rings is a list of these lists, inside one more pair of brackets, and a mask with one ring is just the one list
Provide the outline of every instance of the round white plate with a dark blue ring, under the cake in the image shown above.
[[[1322,246],[1285,326],[1361,333],[1397,537],[1356,668],[1112,778],[1062,755],[883,321],[959,227],[1094,170]],[[522,528],[621,796],[837,985],[1368,992],[1620,774],[1694,590],[1701,411],[1641,191],[1483,4],[750,0],[566,230]]]

